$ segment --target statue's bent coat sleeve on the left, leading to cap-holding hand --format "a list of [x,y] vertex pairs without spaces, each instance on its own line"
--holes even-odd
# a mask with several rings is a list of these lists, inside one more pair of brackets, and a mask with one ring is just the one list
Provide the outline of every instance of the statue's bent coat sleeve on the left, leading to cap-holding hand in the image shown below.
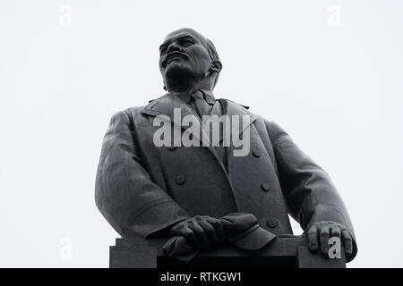
[[119,112],[102,143],[95,201],[122,237],[147,238],[190,215],[154,183],[137,154],[131,114]]

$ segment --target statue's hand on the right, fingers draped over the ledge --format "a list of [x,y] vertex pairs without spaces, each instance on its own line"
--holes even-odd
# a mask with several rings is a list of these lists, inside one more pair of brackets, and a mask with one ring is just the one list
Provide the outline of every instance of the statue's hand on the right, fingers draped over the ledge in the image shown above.
[[319,222],[313,223],[304,235],[308,239],[308,248],[316,252],[319,248],[323,254],[329,251],[329,239],[337,237],[344,245],[344,251],[347,255],[353,252],[353,240],[346,227],[340,223]]

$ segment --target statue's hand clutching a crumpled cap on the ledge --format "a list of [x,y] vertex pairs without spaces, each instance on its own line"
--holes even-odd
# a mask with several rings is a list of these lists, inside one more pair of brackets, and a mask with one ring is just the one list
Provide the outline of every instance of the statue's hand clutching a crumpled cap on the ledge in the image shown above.
[[201,250],[217,248],[227,240],[223,223],[208,215],[197,215],[176,223],[170,234],[183,236],[187,243]]

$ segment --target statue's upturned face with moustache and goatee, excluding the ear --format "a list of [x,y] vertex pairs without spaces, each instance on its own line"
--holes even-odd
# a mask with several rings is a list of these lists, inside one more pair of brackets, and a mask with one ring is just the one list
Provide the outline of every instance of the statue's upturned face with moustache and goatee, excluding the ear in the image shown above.
[[159,71],[170,88],[186,88],[210,70],[207,41],[193,29],[178,29],[159,46]]

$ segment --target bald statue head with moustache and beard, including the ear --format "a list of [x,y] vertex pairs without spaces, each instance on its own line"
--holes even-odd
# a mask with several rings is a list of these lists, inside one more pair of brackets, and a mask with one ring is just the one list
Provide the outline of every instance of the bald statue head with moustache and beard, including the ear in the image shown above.
[[214,45],[194,29],[177,29],[159,46],[159,71],[168,91],[212,90],[221,69]]

